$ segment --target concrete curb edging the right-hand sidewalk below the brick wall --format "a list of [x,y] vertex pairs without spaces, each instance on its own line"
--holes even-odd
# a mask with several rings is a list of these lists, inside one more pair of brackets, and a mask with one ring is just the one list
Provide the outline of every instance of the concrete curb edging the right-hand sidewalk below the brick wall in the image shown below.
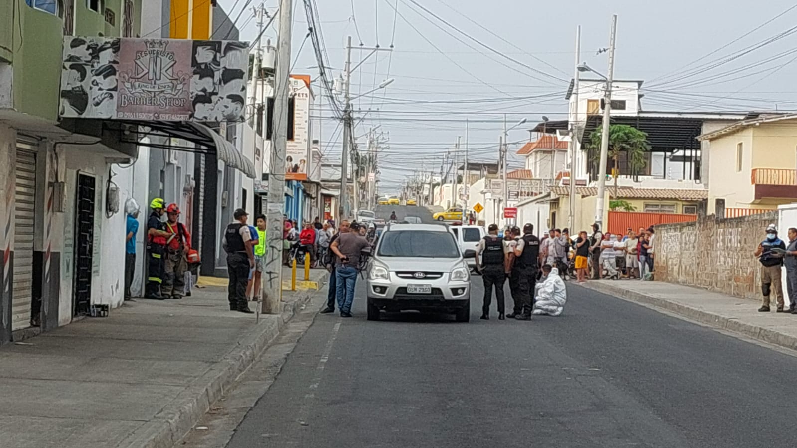
[[635,291],[629,291],[628,289],[618,288],[613,285],[587,282],[582,286],[587,289],[598,291],[599,293],[605,293],[614,297],[619,297],[626,301],[650,305],[654,308],[661,308],[666,311],[673,312],[679,316],[684,316],[689,320],[694,320],[701,324],[705,324],[713,328],[719,328],[727,332],[736,333],[740,336],[745,336],[753,340],[759,340],[761,342],[777,345],[782,348],[788,348],[789,350],[797,350],[797,337],[776,332],[775,330],[771,330],[769,328],[745,324],[734,317],[719,316],[711,312],[705,312],[699,308],[692,308],[677,304],[663,299],[662,297],[637,293]]

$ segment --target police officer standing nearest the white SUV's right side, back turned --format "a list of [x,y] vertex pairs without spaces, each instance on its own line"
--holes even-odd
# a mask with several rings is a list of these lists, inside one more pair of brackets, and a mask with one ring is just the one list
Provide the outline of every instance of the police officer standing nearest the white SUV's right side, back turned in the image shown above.
[[[497,224],[490,224],[487,230],[489,234],[481,239],[476,252],[476,266],[481,273],[481,279],[485,282],[485,301],[481,306],[481,319],[490,320],[490,302],[493,299],[494,285],[498,302],[498,320],[504,320],[504,282],[506,281],[504,242],[498,237]],[[479,255],[482,255],[481,264]]]

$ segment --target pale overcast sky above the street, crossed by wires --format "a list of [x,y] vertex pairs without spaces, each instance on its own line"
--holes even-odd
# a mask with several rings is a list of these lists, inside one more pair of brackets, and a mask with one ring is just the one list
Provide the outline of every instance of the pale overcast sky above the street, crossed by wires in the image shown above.
[[[247,1],[219,0],[232,18]],[[618,14],[615,79],[645,81],[643,109],[797,108],[797,87],[793,85],[797,71],[794,1],[316,0],[316,3],[320,31],[336,77],[344,67],[347,36],[353,37],[354,45],[360,41],[365,46],[394,45],[392,54],[380,52],[368,59],[351,82],[351,94],[356,96],[387,77],[395,78],[386,89],[354,101],[355,110],[362,111],[355,112],[355,117],[365,114],[357,127],[357,136],[379,124],[379,131],[390,132],[390,148],[379,154],[382,193],[398,192],[404,180],[422,167],[426,171],[434,167],[439,172],[442,156],[453,148],[457,136],[461,136],[462,147],[465,145],[465,119],[470,120],[471,160],[494,163],[504,113],[509,126],[524,117],[528,119],[528,124],[510,132],[511,152],[528,141],[526,129],[540,122],[541,116],[552,120],[565,118],[564,92],[575,62],[575,26],[582,26],[581,61],[606,73],[607,55],[596,53],[608,45],[611,14]],[[292,57],[296,59],[307,25],[304,3],[294,0],[294,4]],[[255,5],[257,0],[249,3],[249,9]],[[418,5],[500,54],[446,26]],[[277,0],[265,2],[269,11],[277,6]],[[783,15],[775,18],[779,14]],[[250,41],[257,36],[257,27],[250,16],[246,11],[238,21],[238,26],[242,26],[241,40]],[[269,29],[265,37],[275,40],[274,29]],[[779,38],[766,43],[770,37]],[[749,47],[761,43],[766,45],[750,51]],[[353,50],[352,61],[356,64],[367,53]],[[709,64],[715,60],[716,63]],[[292,73],[315,77],[318,73],[312,68],[315,66],[308,39],[298,53]],[[320,86],[314,89],[317,96],[324,93]],[[332,116],[325,98],[320,107],[322,112],[314,115]],[[365,113],[368,109],[371,112]],[[338,122],[324,118],[322,123],[325,162],[339,163]],[[318,138],[317,127],[315,138]],[[365,142],[364,138],[359,141]],[[510,159],[510,167],[521,165],[519,158]]]

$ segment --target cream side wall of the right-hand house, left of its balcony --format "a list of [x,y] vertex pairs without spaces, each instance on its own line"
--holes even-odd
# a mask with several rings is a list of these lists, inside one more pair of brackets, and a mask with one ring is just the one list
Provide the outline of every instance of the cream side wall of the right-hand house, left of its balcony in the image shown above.
[[[742,143],[742,169],[736,171],[736,144]],[[721,136],[709,144],[709,204],[708,213],[714,213],[715,199],[724,198],[725,207],[748,206],[754,197],[750,184],[752,171],[753,130]]]

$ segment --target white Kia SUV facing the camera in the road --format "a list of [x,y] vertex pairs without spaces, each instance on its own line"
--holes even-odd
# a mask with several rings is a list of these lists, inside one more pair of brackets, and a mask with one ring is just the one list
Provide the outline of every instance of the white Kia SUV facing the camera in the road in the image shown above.
[[470,320],[470,273],[453,234],[438,224],[387,226],[368,263],[368,320],[380,311],[451,312]]

